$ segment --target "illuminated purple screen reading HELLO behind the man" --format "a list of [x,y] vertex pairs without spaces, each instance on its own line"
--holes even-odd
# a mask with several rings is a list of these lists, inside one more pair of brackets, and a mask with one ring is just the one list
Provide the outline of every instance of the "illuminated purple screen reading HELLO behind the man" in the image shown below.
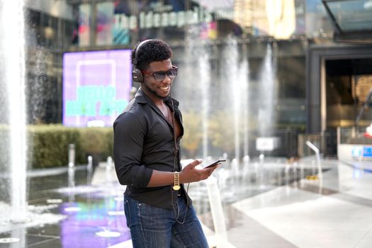
[[130,50],[63,56],[63,125],[111,126],[130,100]]

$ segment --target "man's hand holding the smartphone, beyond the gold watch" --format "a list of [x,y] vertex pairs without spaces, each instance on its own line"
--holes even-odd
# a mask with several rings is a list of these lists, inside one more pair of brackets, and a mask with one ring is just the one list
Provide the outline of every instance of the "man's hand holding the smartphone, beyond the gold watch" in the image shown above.
[[179,181],[181,184],[192,183],[193,181],[202,181],[208,179],[208,177],[213,173],[215,169],[219,166],[210,167],[206,169],[196,169],[198,164],[203,162],[202,159],[196,159],[190,164],[186,165],[184,169],[179,173]]

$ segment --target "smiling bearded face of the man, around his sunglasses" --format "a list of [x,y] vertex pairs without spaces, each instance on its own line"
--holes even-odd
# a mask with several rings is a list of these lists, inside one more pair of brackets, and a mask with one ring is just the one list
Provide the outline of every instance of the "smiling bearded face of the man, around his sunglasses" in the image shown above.
[[167,72],[169,69],[172,69],[170,59],[151,62],[149,68],[146,70],[146,74],[143,74],[144,82],[142,84],[142,90],[157,98],[167,98],[171,91],[173,80],[166,76],[163,81],[157,81],[152,74],[154,72]]

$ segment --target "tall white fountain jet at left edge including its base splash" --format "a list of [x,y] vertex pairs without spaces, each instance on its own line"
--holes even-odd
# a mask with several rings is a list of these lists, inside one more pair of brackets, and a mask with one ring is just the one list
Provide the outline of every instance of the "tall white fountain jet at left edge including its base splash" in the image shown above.
[[[0,232],[11,237],[0,244],[18,242],[26,244],[23,227],[58,222],[62,215],[41,213],[45,206],[28,205],[26,139],[26,0],[0,2]],[[47,208],[55,208],[55,204]],[[13,247],[13,246],[11,246]]]

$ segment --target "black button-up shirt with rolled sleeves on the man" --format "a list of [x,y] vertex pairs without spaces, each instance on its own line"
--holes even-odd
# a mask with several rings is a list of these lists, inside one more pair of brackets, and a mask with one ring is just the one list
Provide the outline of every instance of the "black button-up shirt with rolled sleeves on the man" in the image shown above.
[[[179,102],[168,97],[164,102],[171,109],[171,101],[174,103],[172,111],[181,126],[182,136],[184,128],[178,108]],[[159,208],[173,208],[178,192],[171,189],[172,185],[149,188],[146,186],[153,169],[181,171],[180,154],[175,152],[174,147],[174,130],[159,108],[141,89],[115,120],[113,131],[115,170],[120,184],[127,185],[125,195],[140,203]],[[181,136],[176,139],[178,150]],[[181,193],[186,195],[188,205],[191,205],[183,185]]]

